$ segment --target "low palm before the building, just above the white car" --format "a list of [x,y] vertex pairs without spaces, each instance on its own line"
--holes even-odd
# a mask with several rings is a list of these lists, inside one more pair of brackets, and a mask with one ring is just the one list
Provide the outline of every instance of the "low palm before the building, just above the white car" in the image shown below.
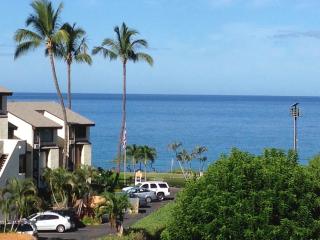
[[64,168],[46,168],[43,177],[50,189],[53,204],[58,208],[66,208],[75,187],[73,174]]

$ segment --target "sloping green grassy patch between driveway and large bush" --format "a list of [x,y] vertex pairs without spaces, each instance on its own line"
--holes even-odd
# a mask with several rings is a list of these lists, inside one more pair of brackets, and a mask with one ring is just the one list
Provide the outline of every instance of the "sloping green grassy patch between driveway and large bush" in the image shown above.
[[149,239],[160,239],[161,232],[168,226],[175,203],[171,202],[139,220],[130,228],[131,231],[142,231]]

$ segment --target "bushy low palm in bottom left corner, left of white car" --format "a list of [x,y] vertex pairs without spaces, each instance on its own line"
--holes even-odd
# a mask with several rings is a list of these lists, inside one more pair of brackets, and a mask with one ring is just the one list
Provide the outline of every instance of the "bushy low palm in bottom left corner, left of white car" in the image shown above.
[[1,206],[6,220],[10,214],[12,220],[27,217],[30,211],[40,207],[39,203],[37,187],[31,179],[10,178],[1,191]]

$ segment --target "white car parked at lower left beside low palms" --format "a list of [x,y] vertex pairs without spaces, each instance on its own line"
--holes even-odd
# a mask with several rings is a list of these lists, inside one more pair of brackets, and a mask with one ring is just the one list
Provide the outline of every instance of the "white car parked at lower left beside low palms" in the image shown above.
[[28,220],[34,222],[38,231],[55,230],[62,233],[71,229],[69,217],[63,217],[54,212],[35,213],[28,217]]

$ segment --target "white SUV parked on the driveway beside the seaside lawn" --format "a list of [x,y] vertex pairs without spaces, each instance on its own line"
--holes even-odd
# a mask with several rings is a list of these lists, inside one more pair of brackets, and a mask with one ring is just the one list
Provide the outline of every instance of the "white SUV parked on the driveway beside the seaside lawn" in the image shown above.
[[[170,188],[168,183],[161,181],[148,181],[138,183],[135,187],[146,188],[154,191],[157,195],[158,200],[162,201],[165,197],[170,196]],[[133,187],[125,187],[122,190],[128,191]]]

